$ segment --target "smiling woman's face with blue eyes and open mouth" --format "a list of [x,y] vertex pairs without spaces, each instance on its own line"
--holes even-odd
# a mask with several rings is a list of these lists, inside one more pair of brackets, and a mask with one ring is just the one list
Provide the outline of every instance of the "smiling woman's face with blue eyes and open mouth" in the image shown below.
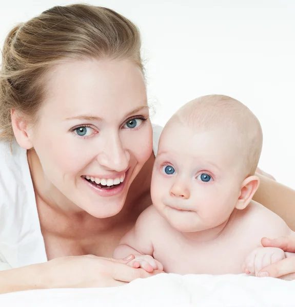
[[60,64],[47,79],[31,133],[47,189],[113,216],[152,152],[143,74],[128,60],[92,59]]

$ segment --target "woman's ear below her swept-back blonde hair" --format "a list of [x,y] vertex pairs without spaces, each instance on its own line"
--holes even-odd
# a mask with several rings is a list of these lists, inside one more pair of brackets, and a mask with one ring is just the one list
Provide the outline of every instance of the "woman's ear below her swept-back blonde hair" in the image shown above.
[[33,144],[30,139],[28,120],[19,116],[14,109],[11,109],[11,124],[15,139],[19,146],[31,149]]

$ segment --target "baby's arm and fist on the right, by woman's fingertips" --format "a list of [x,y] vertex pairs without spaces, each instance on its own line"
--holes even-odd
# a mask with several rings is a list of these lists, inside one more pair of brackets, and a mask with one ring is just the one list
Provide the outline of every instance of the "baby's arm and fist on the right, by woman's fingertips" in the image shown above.
[[290,235],[293,232],[281,217],[270,210],[258,207],[258,210],[254,210],[253,213],[255,213],[255,215],[252,215],[254,221],[249,226],[252,228],[253,242],[259,240],[259,246],[254,248],[246,257],[243,263],[243,271],[258,276],[262,268],[284,258],[293,257],[295,253],[284,252],[276,247],[262,247],[260,244],[262,237],[276,238]]

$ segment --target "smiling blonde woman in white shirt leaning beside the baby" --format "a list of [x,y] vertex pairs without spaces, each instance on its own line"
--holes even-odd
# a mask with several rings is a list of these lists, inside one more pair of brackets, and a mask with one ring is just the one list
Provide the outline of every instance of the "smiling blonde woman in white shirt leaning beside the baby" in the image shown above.
[[[140,47],[128,19],[87,5],[54,7],[9,33],[0,79],[1,293],[150,276],[126,265],[132,255],[110,258],[151,204],[161,129],[149,121]],[[259,200],[268,205],[265,182]]]

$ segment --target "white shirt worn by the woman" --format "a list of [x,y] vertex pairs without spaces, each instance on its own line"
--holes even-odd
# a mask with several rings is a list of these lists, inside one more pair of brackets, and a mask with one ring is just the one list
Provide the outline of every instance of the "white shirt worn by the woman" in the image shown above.
[[[162,127],[153,125],[156,155]],[[47,261],[27,151],[0,142],[0,271]]]

